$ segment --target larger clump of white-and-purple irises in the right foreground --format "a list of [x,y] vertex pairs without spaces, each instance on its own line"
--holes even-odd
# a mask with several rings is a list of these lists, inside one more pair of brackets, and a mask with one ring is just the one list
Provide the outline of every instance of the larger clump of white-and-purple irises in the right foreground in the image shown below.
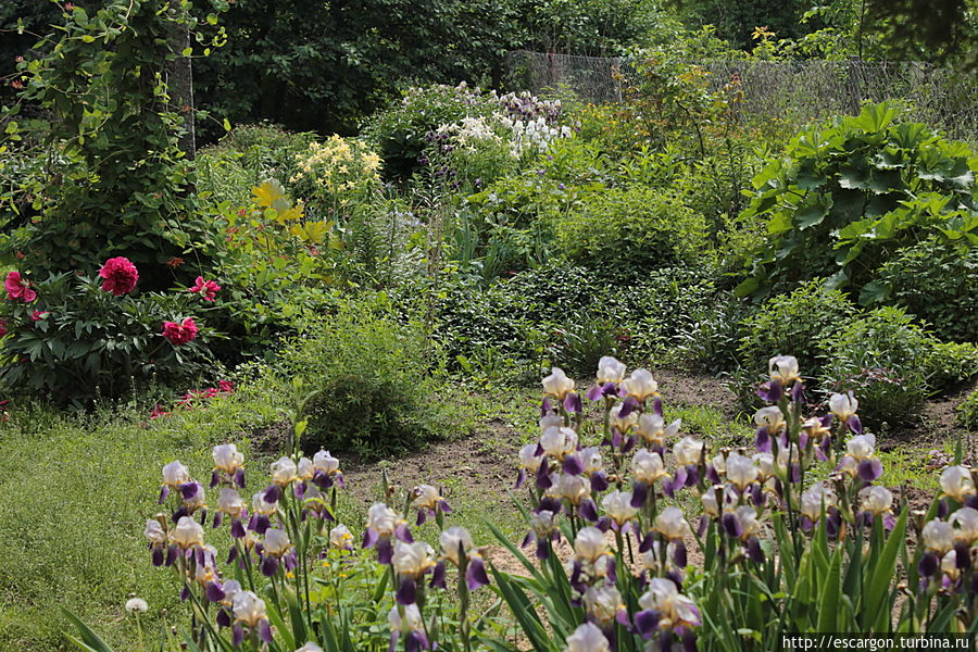
[[[807,557],[820,553],[816,549],[826,551],[826,560],[837,553],[840,567],[844,557],[845,568],[856,574],[877,574],[883,566],[878,575],[888,590],[880,593],[877,582],[874,597],[892,606],[898,591],[908,595],[908,627],[939,622],[957,631],[974,628],[975,472],[956,464],[941,474],[941,494],[911,526],[917,536],[908,554],[917,562],[908,581],[898,581],[895,552],[882,550],[901,514],[905,527],[907,507],[879,484],[876,437],[864,430],[852,392],[815,403],[794,358],[769,361],[768,378],[757,390],[767,405],[754,415],[751,450],[684,436],[679,419],[664,417],[651,372],[628,374],[614,358],[601,359],[587,390],[556,367],[542,386],[539,436],[519,450],[515,486],[527,488],[529,502],[523,547],[532,547],[544,585],[553,582],[539,590],[539,599],[549,604],[549,595],[560,591],[556,575],[563,568],[567,601],[582,614],[582,622],[559,623],[568,632],[566,650],[695,649],[698,637],[723,636],[716,623],[738,617],[729,611],[734,601],[723,597],[740,599],[751,585],[731,586],[730,578],[773,582],[758,600],[794,609],[791,601],[804,589],[783,567],[815,564]],[[823,412],[813,414],[819,406]],[[589,427],[585,416],[595,413],[600,426]],[[679,505],[687,505],[686,514]],[[560,554],[562,540],[570,552],[554,566],[551,557]],[[705,576],[689,564],[690,547],[699,549]],[[858,589],[863,579],[850,573],[845,581]],[[936,620],[939,612],[946,617]],[[892,626],[887,618],[873,625]]]

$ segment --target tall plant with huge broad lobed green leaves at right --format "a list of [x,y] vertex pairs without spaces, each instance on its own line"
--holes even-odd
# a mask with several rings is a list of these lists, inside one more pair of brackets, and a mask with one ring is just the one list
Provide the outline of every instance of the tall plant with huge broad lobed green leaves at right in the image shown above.
[[899,250],[928,236],[961,251],[978,243],[971,151],[894,115],[867,105],[806,128],[754,178],[744,215],[767,218],[767,238],[739,293],[825,276],[867,303],[885,292],[877,271]]

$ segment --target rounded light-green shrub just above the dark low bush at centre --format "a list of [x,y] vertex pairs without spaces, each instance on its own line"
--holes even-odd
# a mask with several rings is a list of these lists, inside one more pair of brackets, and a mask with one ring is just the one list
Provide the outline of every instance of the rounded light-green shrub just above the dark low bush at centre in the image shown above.
[[701,215],[672,192],[635,186],[589,193],[555,217],[559,250],[572,263],[628,277],[650,269],[710,269],[715,253]]

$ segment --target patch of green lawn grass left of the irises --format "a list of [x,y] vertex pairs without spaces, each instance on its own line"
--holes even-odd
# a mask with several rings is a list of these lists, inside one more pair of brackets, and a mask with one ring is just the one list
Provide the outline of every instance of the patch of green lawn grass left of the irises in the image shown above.
[[174,578],[150,564],[142,537],[161,466],[178,459],[206,479],[211,446],[248,450],[247,432],[274,418],[246,397],[152,422],[135,409],[79,417],[13,408],[0,426],[0,651],[71,649],[59,606],[117,650],[135,649],[128,594],[150,616],[177,603]]

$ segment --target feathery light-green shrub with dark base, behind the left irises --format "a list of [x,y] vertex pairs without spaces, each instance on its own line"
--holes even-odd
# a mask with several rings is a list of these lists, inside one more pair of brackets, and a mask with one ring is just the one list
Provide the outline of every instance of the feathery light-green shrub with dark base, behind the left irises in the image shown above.
[[419,325],[398,323],[383,298],[300,325],[278,364],[312,394],[303,449],[375,456],[461,435],[456,409],[431,400],[443,393],[439,360]]

